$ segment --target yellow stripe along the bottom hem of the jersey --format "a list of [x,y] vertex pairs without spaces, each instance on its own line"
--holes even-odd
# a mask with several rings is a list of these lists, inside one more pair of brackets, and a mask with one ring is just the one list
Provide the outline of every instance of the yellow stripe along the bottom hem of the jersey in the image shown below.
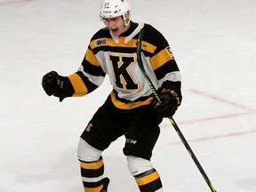
[[120,100],[116,100],[115,92],[111,92],[110,96],[111,96],[111,100],[112,100],[113,104],[116,106],[116,108],[120,108],[120,109],[138,108],[140,106],[149,105],[153,100],[153,98],[150,97],[150,98],[148,98],[148,100],[144,100],[144,101],[135,101],[135,102],[124,103]]

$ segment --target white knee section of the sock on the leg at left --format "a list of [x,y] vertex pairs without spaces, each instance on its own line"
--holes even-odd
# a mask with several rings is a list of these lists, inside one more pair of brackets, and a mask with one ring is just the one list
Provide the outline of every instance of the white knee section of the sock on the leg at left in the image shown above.
[[102,151],[93,148],[85,140],[80,138],[77,148],[78,159],[84,162],[94,162],[100,159]]

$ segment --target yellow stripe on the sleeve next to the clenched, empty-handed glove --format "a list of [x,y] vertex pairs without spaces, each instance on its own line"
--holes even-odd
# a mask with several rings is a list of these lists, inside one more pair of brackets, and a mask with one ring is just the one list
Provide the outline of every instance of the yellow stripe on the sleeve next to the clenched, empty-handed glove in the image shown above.
[[75,93],[72,95],[73,97],[81,97],[87,94],[88,90],[80,76],[76,73],[68,76],[71,84],[74,87]]

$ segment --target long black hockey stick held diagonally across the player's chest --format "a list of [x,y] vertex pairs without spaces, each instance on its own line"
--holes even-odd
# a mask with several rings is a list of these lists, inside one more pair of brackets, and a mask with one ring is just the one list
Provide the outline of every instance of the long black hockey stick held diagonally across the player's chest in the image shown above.
[[[141,44],[142,44],[142,38],[143,38],[143,34],[144,34],[144,28],[142,28],[140,30],[140,35],[138,38],[138,42],[137,42],[137,62],[140,68],[140,71],[142,73],[142,75],[145,77],[146,82],[148,83],[151,91],[153,92],[156,100],[161,103],[161,99],[156,91],[156,87],[154,86],[154,84],[152,84],[150,78],[148,77],[148,74],[143,66],[142,60],[141,60]],[[192,157],[192,159],[194,160],[198,170],[201,172],[202,176],[204,177],[204,180],[206,181],[207,185],[209,186],[209,188],[211,188],[212,192],[217,192],[216,189],[213,187],[211,180],[209,180],[209,178],[207,177],[206,173],[204,172],[203,167],[201,166],[201,164],[199,163],[199,161],[197,160],[193,150],[190,148],[190,146],[188,145],[188,141],[185,139],[185,137],[183,136],[182,132],[180,132],[180,128],[178,126],[178,124],[175,123],[174,119],[172,118],[172,116],[168,117],[173,128],[175,129],[175,131],[178,133],[180,140],[182,141],[183,145],[185,146],[185,148],[187,148],[189,155]]]

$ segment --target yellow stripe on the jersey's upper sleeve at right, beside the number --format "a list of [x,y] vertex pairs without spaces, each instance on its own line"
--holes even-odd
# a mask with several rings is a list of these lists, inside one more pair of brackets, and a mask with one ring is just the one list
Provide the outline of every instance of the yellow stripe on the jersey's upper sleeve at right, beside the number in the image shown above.
[[161,52],[158,52],[154,57],[152,57],[150,59],[150,63],[153,70],[156,70],[156,68],[160,68],[162,65],[164,65],[164,63],[169,60],[173,60],[173,55],[167,49],[164,49]]

